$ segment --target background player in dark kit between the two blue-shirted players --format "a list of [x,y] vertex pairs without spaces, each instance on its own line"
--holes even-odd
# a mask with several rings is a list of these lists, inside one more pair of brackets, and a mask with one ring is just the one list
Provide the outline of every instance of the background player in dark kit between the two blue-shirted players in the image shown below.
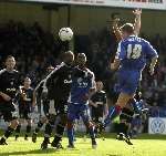
[[92,121],[95,123],[95,134],[102,133],[102,127],[104,116],[107,114],[107,100],[106,93],[103,91],[103,83],[101,81],[96,82],[96,92],[92,95],[90,100]]

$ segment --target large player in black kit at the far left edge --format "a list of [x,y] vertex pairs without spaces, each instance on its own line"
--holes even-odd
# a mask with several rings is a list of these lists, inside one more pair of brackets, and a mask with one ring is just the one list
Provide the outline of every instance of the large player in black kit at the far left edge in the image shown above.
[[18,126],[15,107],[13,100],[21,85],[20,73],[14,70],[15,60],[9,55],[6,60],[7,69],[0,71],[0,114],[6,122],[9,122],[8,129],[0,139],[0,145],[6,145],[6,139],[13,133]]

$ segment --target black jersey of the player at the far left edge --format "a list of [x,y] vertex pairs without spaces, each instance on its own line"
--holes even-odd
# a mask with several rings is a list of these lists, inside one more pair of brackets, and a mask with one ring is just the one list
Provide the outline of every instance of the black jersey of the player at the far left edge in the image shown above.
[[[6,69],[0,71],[0,92],[6,93],[11,98],[14,98],[20,85],[21,75],[18,71],[13,70],[8,72]],[[4,102],[2,97],[0,101]]]

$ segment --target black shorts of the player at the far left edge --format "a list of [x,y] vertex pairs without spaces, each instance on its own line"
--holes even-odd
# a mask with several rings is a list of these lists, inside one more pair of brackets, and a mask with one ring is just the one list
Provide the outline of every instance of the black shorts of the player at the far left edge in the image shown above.
[[17,116],[13,116],[13,112],[15,112],[15,107],[12,102],[0,103],[0,116],[3,116],[4,122],[11,122],[17,118]]

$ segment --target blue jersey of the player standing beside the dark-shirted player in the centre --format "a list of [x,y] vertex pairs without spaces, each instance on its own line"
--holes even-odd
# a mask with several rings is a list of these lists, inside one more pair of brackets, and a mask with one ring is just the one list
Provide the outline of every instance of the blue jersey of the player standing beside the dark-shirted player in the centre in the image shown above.
[[73,77],[69,102],[72,104],[87,104],[90,89],[94,87],[94,74],[85,69],[87,76]]

